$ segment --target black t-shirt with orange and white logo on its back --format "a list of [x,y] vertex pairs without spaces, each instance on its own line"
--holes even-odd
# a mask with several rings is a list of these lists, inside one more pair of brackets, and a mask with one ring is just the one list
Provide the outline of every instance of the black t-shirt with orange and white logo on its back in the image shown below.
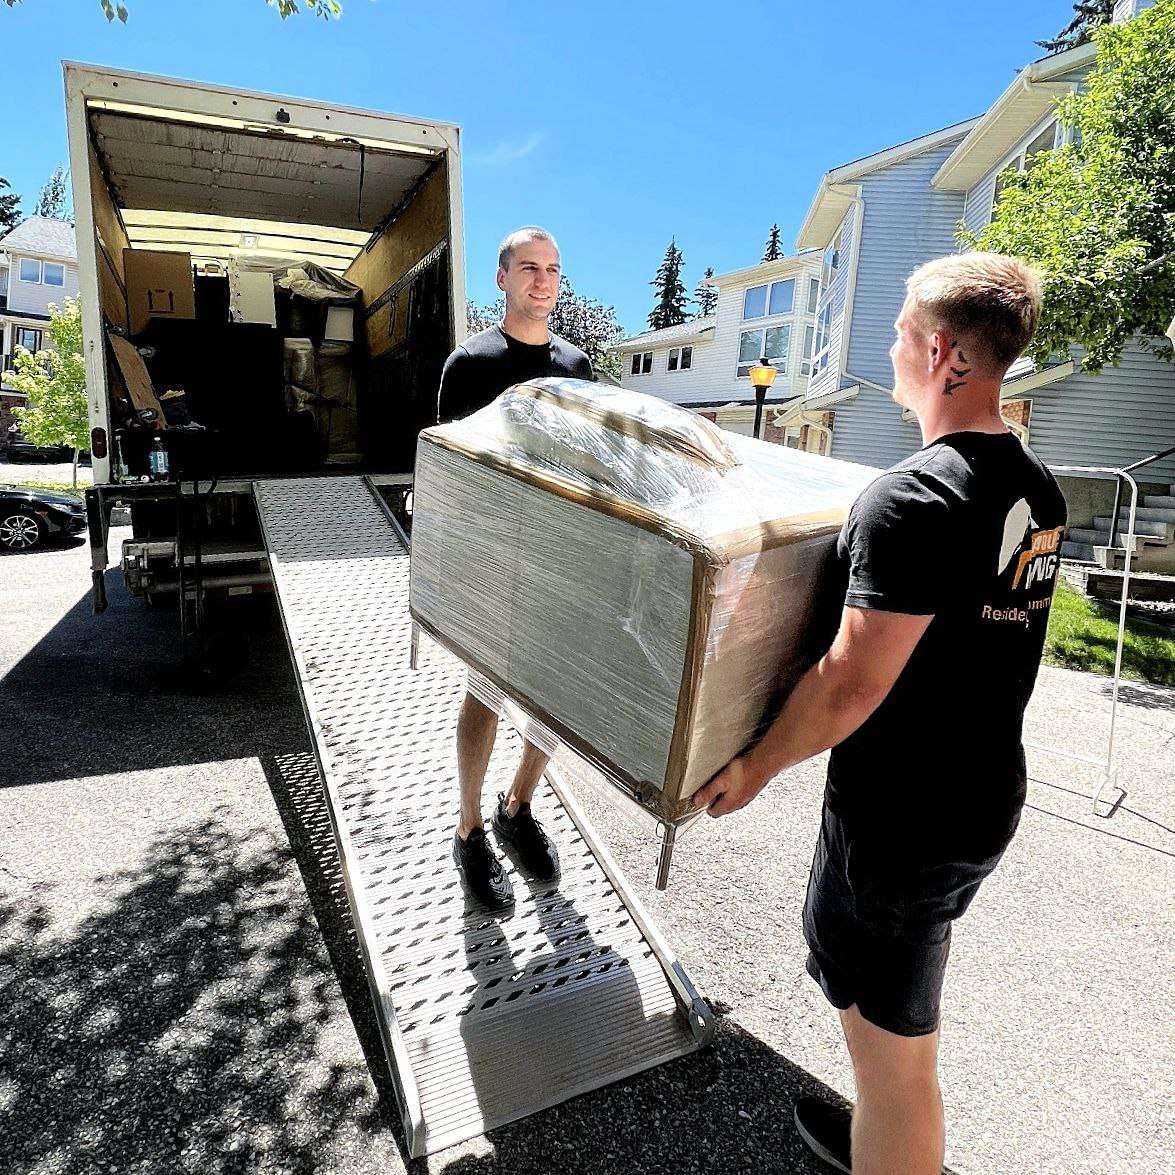
[[934,617],[828,765],[830,807],[891,860],[979,865],[1012,838],[1063,529],[1056,482],[1010,432],[941,437],[853,504],[845,603]]

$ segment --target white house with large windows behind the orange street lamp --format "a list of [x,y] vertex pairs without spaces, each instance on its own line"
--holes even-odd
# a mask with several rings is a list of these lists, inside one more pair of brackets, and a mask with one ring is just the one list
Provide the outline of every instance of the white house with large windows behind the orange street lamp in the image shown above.
[[[819,446],[818,431],[793,422],[774,428],[780,405],[803,395],[811,372],[819,301],[820,258],[799,255],[766,261],[711,280],[718,306],[706,318],[623,340],[620,383],[701,412],[723,428],[750,434],[754,390],[747,372],[766,355],[779,375],[767,396],[764,436],[792,445]],[[813,419],[812,423],[818,423]],[[827,437],[824,437],[825,445]]]

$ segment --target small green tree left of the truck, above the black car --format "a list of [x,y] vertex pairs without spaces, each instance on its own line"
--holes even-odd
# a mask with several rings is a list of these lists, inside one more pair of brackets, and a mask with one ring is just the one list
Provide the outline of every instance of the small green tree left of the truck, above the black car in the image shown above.
[[49,347],[33,352],[18,347],[15,370],[5,382],[27,397],[13,415],[25,438],[36,445],[67,444],[74,451],[73,484],[78,488],[78,452],[89,444],[86,404],[86,361],[81,345],[81,311],[66,298],[49,304]]

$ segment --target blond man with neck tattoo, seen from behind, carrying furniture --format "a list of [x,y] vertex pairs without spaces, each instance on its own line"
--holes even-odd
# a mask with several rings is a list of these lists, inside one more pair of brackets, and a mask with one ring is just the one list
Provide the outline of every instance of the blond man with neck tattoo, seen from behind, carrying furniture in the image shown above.
[[928,262],[906,288],[893,398],[918,417],[922,448],[850,511],[832,647],[698,793],[725,815],[832,748],[804,934],[807,969],[840,1013],[857,1104],[850,1123],[803,1101],[795,1122],[854,1175],[942,1167],[951,925],[1020,819],[1021,726],[1065,529],[1056,482],[1000,416],[1003,375],[1036,328],[1038,276],[968,253]]

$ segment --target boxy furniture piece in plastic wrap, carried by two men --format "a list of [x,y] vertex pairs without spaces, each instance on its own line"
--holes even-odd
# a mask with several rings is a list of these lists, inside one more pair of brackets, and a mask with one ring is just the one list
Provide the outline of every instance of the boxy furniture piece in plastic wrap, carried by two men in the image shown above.
[[837,533],[877,472],[639,392],[518,384],[421,434],[412,617],[676,820],[826,647]]

